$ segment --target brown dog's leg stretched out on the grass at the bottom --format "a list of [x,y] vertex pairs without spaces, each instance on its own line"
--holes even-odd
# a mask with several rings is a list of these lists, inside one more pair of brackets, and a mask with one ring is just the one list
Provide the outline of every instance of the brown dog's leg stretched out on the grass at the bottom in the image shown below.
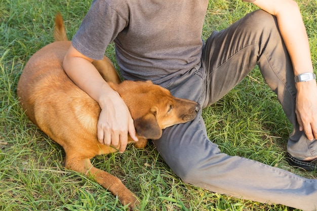
[[89,158],[67,157],[65,167],[92,177],[98,184],[113,195],[117,195],[122,204],[129,204],[130,210],[135,208],[137,197],[117,177],[94,167]]

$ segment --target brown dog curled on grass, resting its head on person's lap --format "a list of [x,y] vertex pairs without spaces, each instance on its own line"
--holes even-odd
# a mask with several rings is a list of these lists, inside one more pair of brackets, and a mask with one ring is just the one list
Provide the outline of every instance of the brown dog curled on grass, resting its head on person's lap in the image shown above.
[[[65,41],[61,16],[57,16],[55,22],[56,41],[36,52],[21,74],[17,88],[20,103],[30,120],[64,148],[66,168],[92,176],[118,195],[123,204],[130,203],[132,209],[137,202],[134,194],[118,178],[90,162],[96,155],[117,149],[97,140],[100,107],[65,74],[62,62],[71,42]],[[137,147],[144,147],[147,139],[159,139],[162,129],[168,126],[192,120],[200,109],[196,102],[175,98],[150,81],[121,82],[106,57],[93,64],[127,104],[139,137]]]

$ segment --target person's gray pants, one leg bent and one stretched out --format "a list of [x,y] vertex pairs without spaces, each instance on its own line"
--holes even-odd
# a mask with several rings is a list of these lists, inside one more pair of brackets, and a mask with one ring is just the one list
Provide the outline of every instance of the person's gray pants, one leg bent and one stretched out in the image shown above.
[[[214,32],[203,48],[201,65],[166,87],[176,97],[197,101],[205,108],[228,93],[256,64],[294,125],[289,153],[296,158],[317,156],[316,141],[308,141],[299,131],[293,67],[276,19],[262,10]],[[153,142],[184,182],[249,200],[316,209],[317,180],[221,153],[208,139],[201,114],[191,122],[165,129],[162,138]]]

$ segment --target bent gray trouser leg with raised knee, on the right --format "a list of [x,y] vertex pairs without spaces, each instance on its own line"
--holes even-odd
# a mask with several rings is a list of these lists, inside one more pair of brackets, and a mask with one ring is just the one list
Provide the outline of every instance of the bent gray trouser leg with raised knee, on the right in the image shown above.
[[204,106],[222,98],[258,64],[293,125],[288,152],[298,159],[317,156],[317,140],[309,141],[299,131],[293,66],[273,16],[258,10],[229,28],[214,32],[206,42],[203,61],[209,92]]

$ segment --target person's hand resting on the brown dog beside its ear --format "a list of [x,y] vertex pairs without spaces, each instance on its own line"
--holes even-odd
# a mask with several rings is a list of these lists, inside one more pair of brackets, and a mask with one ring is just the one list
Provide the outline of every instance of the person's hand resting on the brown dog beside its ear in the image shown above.
[[127,105],[116,92],[113,92],[111,98],[101,107],[97,124],[98,141],[107,146],[119,146],[122,153],[127,147],[128,133],[134,141],[138,141]]

